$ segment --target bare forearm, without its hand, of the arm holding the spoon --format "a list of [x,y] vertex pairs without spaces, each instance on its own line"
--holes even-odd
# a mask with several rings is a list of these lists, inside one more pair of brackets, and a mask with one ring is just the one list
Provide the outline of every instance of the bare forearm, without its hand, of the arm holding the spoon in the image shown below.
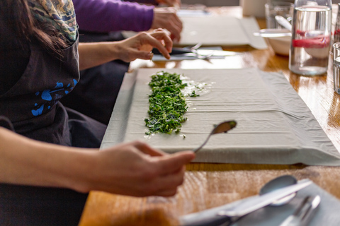
[[84,174],[94,152],[33,141],[0,128],[0,182],[87,191]]

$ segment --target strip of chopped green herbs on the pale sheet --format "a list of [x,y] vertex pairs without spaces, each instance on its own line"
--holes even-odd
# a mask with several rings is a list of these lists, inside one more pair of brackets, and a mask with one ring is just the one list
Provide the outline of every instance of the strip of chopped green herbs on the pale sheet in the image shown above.
[[[171,133],[181,131],[181,123],[186,121],[183,116],[188,109],[186,98],[181,90],[187,86],[181,81],[178,73],[159,71],[151,76],[149,86],[152,94],[149,95],[149,117],[145,119],[145,126],[149,129],[147,135],[152,133]],[[195,97],[198,96],[193,91]],[[191,95],[191,96],[192,96]]]

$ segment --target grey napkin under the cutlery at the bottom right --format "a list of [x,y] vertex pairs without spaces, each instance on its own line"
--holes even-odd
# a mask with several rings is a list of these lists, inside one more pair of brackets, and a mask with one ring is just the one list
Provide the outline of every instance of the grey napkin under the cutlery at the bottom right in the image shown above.
[[[324,191],[316,184],[311,184],[307,186],[305,189],[297,192],[297,196],[293,198],[290,203],[284,206],[267,206],[265,208],[261,208],[256,210],[253,213],[249,213],[249,215],[244,216],[239,221],[233,224],[233,226],[273,226],[280,225],[288,215],[294,213],[295,209],[305,196],[316,196],[319,195],[321,197],[321,202],[315,213],[314,217],[311,219],[309,226],[317,226],[317,225],[327,225],[327,226],[335,226],[340,225],[340,201],[339,199],[328,194],[327,191]],[[224,208],[237,205],[239,201],[234,203],[229,203],[225,206],[220,206],[217,208],[211,208],[209,210],[203,210],[198,213],[193,213],[189,215],[183,215],[181,220],[181,225],[186,225],[193,219],[205,219],[209,218],[213,215],[216,215],[220,210]]]

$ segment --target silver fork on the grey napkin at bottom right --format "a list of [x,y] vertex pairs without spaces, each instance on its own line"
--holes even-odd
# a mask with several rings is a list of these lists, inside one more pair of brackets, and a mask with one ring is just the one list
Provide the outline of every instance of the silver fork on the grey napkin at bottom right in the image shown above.
[[317,206],[321,201],[320,196],[306,196],[300,203],[300,206],[295,210],[293,215],[288,216],[280,226],[305,226],[308,225]]

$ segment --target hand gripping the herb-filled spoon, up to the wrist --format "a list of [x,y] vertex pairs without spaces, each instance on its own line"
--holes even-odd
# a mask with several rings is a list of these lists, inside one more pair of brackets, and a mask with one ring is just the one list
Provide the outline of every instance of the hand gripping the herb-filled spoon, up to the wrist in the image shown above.
[[166,154],[146,143],[123,143],[96,153],[91,189],[129,196],[174,196],[192,151]]

